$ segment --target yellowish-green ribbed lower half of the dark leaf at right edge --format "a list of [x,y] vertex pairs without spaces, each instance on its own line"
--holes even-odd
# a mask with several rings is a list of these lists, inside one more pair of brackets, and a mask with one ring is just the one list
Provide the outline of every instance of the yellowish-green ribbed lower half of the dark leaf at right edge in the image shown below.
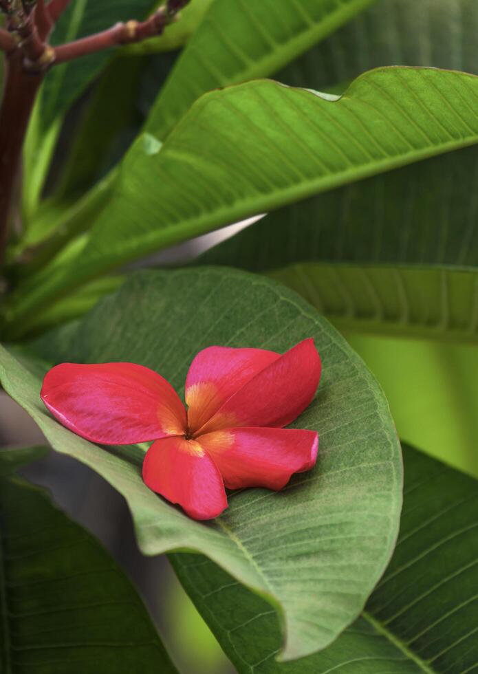
[[476,268],[305,263],[270,275],[340,331],[478,340]]

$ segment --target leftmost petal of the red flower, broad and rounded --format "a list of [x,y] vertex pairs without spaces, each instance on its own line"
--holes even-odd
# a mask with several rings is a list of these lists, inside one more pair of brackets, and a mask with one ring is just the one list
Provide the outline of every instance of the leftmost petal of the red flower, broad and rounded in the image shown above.
[[41,398],[63,426],[100,444],[146,442],[186,428],[171,384],[130,362],[57,365],[43,380]]

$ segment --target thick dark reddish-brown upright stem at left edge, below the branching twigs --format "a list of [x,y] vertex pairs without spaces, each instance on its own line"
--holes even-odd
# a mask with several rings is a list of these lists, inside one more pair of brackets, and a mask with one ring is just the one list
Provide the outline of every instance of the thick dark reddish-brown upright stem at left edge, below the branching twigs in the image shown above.
[[6,58],[6,84],[0,109],[0,264],[8,238],[23,139],[43,79],[42,73],[25,72],[22,58],[18,52]]

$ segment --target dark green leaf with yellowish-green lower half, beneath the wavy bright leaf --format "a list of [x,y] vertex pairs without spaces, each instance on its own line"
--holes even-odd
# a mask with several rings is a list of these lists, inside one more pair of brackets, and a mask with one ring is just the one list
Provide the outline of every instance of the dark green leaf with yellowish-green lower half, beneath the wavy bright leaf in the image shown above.
[[266,272],[343,330],[477,340],[476,148],[294,204],[207,252]]

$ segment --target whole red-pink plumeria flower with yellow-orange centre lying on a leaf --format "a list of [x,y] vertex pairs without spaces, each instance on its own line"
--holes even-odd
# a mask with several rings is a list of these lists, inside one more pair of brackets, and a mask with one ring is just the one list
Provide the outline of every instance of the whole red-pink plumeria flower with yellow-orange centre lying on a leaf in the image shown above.
[[186,404],[142,365],[63,363],[45,376],[41,398],[63,426],[91,442],[154,440],[144,457],[149,488],[194,519],[227,508],[229,489],[279,490],[314,466],[318,435],[285,429],[312,402],[321,377],[314,340],[281,356],[209,347],[193,360]]

